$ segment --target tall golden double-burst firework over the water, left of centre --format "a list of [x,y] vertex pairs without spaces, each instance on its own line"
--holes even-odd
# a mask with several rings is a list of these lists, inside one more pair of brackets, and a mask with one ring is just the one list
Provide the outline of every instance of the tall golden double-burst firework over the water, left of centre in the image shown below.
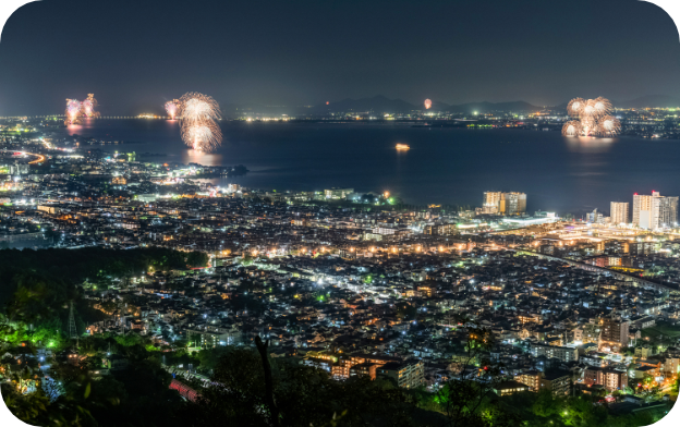
[[179,115],[182,139],[197,151],[211,151],[222,143],[219,105],[209,96],[189,93],[180,98]]

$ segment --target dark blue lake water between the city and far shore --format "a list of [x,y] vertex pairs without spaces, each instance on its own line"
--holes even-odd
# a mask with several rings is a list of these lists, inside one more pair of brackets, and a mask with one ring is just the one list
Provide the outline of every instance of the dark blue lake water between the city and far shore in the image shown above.
[[[222,122],[222,146],[206,155],[185,147],[171,121],[97,120],[59,131],[144,143],[96,146],[106,150],[168,155],[154,161],[244,164],[246,176],[216,182],[279,192],[352,187],[411,204],[479,206],[485,191],[517,191],[526,193],[530,212],[560,215],[608,212],[610,202],[632,204],[633,193],[653,190],[680,195],[679,141],[371,123]],[[411,149],[397,151],[399,143]]]

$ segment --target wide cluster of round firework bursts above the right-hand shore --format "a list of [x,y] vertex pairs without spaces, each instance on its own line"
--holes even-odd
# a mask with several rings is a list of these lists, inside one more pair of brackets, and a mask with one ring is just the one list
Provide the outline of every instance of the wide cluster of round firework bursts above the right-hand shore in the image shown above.
[[567,106],[567,112],[576,120],[564,123],[564,136],[611,137],[621,131],[621,123],[611,115],[611,102],[606,98],[574,98]]

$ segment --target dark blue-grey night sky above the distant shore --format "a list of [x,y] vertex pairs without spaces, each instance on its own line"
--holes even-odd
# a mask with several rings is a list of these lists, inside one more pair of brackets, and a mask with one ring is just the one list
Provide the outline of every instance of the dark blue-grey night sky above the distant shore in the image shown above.
[[[154,5],[155,4],[155,5]],[[0,114],[220,103],[680,96],[680,35],[644,0],[81,1],[22,5],[0,34]]]

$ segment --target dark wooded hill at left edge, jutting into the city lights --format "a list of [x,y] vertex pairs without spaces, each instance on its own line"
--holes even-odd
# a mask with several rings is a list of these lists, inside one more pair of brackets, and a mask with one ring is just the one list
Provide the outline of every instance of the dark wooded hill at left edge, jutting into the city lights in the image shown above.
[[33,318],[32,329],[63,331],[68,306],[73,303],[76,324],[101,320],[101,312],[81,298],[80,284],[90,282],[106,289],[117,280],[123,283],[150,270],[186,269],[205,266],[208,257],[201,252],[179,252],[150,247],[129,251],[88,247],[81,249],[2,249],[0,251],[0,310],[22,304]]

